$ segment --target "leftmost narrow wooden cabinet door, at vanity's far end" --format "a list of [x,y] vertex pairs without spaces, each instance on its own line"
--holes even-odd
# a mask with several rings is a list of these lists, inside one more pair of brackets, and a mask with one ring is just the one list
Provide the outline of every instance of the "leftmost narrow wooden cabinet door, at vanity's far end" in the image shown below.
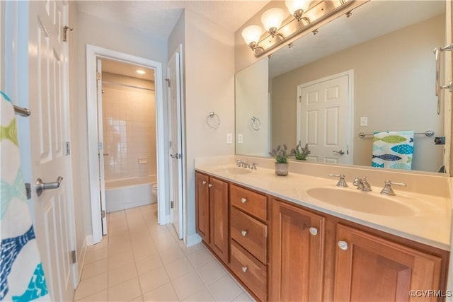
[[209,177],[195,173],[195,211],[197,233],[206,243],[210,243],[210,190]]

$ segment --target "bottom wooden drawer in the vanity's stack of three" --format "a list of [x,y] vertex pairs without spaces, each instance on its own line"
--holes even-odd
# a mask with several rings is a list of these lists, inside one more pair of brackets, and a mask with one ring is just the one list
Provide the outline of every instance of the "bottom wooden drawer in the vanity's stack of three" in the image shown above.
[[260,299],[266,300],[267,272],[263,263],[231,241],[231,270]]

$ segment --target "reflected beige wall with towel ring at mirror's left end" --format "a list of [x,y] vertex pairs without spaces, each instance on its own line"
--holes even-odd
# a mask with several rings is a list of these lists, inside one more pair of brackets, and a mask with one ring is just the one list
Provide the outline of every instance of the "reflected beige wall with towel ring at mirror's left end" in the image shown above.
[[[268,83],[269,60],[264,57],[236,74],[236,153],[268,156],[270,116]],[[260,129],[253,129],[251,118],[260,120]],[[255,127],[258,124],[255,124]],[[239,134],[242,143],[239,143]]]

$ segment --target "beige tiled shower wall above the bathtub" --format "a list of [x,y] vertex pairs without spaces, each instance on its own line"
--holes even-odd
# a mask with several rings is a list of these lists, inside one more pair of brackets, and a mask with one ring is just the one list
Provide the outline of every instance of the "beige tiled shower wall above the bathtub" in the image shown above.
[[[156,175],[154,92],[103,86],[105,180]],[[147,158],[147,163],[139,163]]]

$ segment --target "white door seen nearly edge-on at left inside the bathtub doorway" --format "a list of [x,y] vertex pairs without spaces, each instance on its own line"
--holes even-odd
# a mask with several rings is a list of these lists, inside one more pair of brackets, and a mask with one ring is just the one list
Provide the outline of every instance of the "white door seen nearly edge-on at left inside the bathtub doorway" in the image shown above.
[[107,215],[105,215],[105,170],[104,156],[108,154],[104,151],[103,143],[103,114],[102,114],[102,60],[96,59],[96,89],[98,96],[98,158],[99,158],[99,200],[101,204],[101,224],[102,234],[107,235]]

